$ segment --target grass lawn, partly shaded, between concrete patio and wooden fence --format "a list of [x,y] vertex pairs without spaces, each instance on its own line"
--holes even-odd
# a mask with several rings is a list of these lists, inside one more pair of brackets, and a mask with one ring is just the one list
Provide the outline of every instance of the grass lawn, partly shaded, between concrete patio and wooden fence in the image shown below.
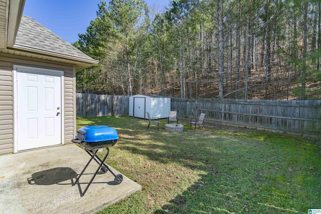
[[[181,119],[180,119],[181,120]],[[99,213],[307,213],[321,209],[319,140],[206,126],[157,131],[134,117],[77,118],[106,125],[119,140],[107,163],[142,190]],[[120,184],[121,185],[121,184]]]

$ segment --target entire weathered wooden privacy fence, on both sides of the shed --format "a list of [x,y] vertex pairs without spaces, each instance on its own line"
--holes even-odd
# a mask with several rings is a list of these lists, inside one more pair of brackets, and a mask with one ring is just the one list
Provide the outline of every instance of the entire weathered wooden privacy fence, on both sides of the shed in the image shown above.
[[[77,93],[77,116],[128,115],[127,96]],[[180,117],[198,117],[230,126],[321,137],[321,101],[187,100],[171,98],[171,110]]]

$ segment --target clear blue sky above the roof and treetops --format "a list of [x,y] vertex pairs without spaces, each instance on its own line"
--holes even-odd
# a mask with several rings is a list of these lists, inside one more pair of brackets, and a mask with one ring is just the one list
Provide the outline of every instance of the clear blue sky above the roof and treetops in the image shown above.
[[[109,2],[108,0],[106,2]],[[57,34],[69,43],[78,40],[78,34],[86,33],[94,20],[100,0],[26,0],[23,15]],[[149,11],[164,11],[170,0],[145,0]]]

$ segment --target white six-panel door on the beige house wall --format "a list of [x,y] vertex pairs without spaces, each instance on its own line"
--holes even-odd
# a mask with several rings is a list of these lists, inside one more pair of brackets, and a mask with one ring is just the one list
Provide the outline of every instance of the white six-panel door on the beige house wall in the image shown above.
[[61,144],[61,76],[17,68],[18,151]]

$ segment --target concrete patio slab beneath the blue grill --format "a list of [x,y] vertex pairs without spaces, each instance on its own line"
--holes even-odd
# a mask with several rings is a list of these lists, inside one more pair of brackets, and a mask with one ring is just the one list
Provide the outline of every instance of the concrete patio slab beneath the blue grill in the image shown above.
[[98,172],[81,196],[98,164],[92,161],[72,184],[89,159],[75,144],[0,156],[0,213],[94,213],[141,189],[125,175],[114,185],[109,171]]

